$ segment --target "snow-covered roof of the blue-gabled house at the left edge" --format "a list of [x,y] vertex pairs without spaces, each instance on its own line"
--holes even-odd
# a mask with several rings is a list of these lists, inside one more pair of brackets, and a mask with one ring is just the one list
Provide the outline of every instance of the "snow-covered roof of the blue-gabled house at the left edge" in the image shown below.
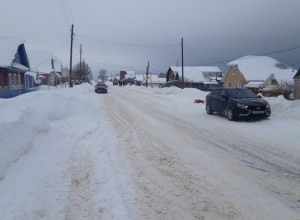
[[18,52],[18,47],[24,44],[21,37],[0,37],[0,67],[15,67],[28,70],[26,66],[13,62]]

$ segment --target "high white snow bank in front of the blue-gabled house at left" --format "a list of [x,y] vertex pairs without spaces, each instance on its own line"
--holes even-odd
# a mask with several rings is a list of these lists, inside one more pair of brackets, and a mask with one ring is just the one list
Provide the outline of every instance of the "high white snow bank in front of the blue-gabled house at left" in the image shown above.
[[82,100],[67,89],[64,93],[52,89],[0,99],[0,180],[12,163],[30,151],[34,137],[47,132],[51,121],[80,114],[82,108]]

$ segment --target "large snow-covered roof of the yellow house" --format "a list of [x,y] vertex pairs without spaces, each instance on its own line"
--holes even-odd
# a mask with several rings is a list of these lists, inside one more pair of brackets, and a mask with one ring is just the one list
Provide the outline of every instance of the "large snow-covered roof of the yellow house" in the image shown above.
[[291,82],[295,75],[291,67],[268,56],[245,56],[227,64],[227,66],[235,65],[247,81],[266,80],[274,74],[279,82]]

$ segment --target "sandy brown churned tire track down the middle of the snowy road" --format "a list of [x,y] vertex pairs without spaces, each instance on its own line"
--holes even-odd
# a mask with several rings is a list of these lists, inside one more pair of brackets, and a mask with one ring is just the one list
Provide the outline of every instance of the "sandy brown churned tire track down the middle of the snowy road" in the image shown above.
[[[178,143],[168,143],[151,132],[159,128],[142,125],[121,99],[111,96],[105,106],[120,140],[119,152],[124,166],[133,170],[131,178],[136,197],[131,207],[136,210],[138,219],[236,218],[238,213],[230,199],[203,176],[192,172],[173,150]],[[150,120],[156,120],[151,112],[142,113],[146,114]],[[175,142],[178,140],[175,138]]]

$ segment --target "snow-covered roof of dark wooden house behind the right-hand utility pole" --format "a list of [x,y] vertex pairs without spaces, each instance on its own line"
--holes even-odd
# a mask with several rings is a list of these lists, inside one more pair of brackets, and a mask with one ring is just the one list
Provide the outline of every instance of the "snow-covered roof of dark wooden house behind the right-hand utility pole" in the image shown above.
[[[182,76],[181,66],[171,66],[173,72]],[[193,82],[211,81],[210,77],[221,76],[222,71],[216,66],[184,66],[184,79]]]

